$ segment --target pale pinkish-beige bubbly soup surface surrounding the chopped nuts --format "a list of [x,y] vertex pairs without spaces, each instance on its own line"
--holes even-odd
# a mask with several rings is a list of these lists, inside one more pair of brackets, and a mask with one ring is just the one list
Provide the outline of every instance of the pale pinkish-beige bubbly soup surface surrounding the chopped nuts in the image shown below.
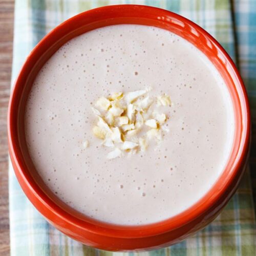
[[[172,99],[169,133],[145,152],[106,159],[91,106],[147,87]],[[166,30],[117,25],[70,40],[47,61],[28,98],[25,133],[37,172],[63,202],[137,225],[175,216],[207,193],[230,154],[234,115],[223,79],[197,48]]]

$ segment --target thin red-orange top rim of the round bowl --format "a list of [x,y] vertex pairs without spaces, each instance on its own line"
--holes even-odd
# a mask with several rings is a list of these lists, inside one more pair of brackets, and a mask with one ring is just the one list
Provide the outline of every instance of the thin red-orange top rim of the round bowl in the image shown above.
[[[138,226],[126,226],[126,225],[115,225],[112,223],[104,223],[97,220],[91,220],[90,218],[84,218],[83,220],[74,217],[73,215],[69,214],[69,212],[66,212],[65,210],[61,209],[55,202],[53,202],[47,195],[45,195],[44,192],[40,191],[41,189],[39,186],[35,184],[33,180],[30,179],[30,177],[27,175],[26,171],[24,169],[24,164],[22,162],[22,156],[18,152],[18,136],[15,134],[15,120],[13,120],[12,115],[13,111],[15,111],[14,103],[16,100],[18,100],[18,94],[17,94],[17,88],[23,86],[24,80],[22,79],[23,73],[25,72],[25,69],[27,68],[27,64],[31,62],[32,57],[34,57],[38,51],[38,49],[45,44],[49,37],[51,37],[54,34],[58,33],[58,30],[63,28],[68,28],[70,23],[76,22],[76,20],[82,19],[86,16],[90,15],[99,15],[102,12],[120,12],[120,14],[123,15],[124,12],[129,13],[134,11],[134,9],[139,10],[141,12],[155,12],[158,14],[159,19],[162,19],[163,17],[170,17],[175,18],[183,22],[184,24],[187,24],[190,27],[193,27],[197,31],[199,31],[201,34],[203,34],[207,39],[209,39],[212,44],[220,51],[225,59],[225,61],[228,63],[229,68],[231,68],[230,72],[233,72],[234,77],[236,77],[236,90],[239,89],[240,96],[237,96],[240,100],[243,100],[243,102],[240,101],[240,103],[244,104],[242,112],[241,109],[241,115],[244,118],[241,120],[241,138],[239,138],[240,144],[239,144],[239,150],[236,156],[236,161],[232,163],[232,172],[228,174],[228,177],[225,177],[225,182],[223,181],[223,186],[217,187],[216,184],[212,186],[210,190],[214,190],[214,193],[212,193],[209,197],[207,197],[207,200],[205,200],[204,204],[199,205],[198,202],[193,204],[191,207],[186,209],[185,211],[181,212],[180,214],[169,218],[164,221],[152,223],[152,224],[146,224],[146,225],[138,225]],[[135,24],[135,23],[134,23]],[[238,88],[237,88],[238,87]],[[241,98],[240,98],[241,97]],[[231,97],[232,98],[232,97]],[[242,122],[243,121],[243,122]],[[163,10],[156,7],[151,6],[143,6],[143,5],[114,5],[114,6],[104,6],[96,9],[92,9],[89,11],[85,11],[82,13],[79,13],[65,22],[58,25],[56,28],[54,28],[50,33],[48,33],[44,38],[41,39],[41,41],[35,46],[35,48],[32,50],[32,52],[27,57],[22,69],[19,72],[19,75],[14,83],[10,101],[9,101],[9,108],[8,108],[8,143],[9,143],[9,153],[11,156],[11,160],[13,165],[16,166],[15,174],[16,176],[20,177],[20,179],[23,180],[25,185],[29,188],[31,193],[34,194],[34,196],[41,201],[42,204],[44,204],[44,207],[47,207],[50,209],[53,214],[61,218],[63,221],[66,221],[67,223],[70,223],[73,226],[79,226],[82,230],[90,231],[92,233],[101,234],[108,237],[123,237],[123,238],[138,238],[138,237],[147,237],[147,236],[156,236],[157,234],[161,234],[164,232],[167,232],[169,230],[175,230],[186,223],[192,222],[197,216],[201,216],[206,212],[207,209],[212,207],[218,200],[220,200],[221,196],[225,193],[227,188],[231,185],[233,180],[239,175],[241,172],[241,167],[244,163],[244,159],[247,156],[248,147],[249,147],[249,137],[250,137],[250,110],[249,110],[249,103],[248,98],[246,94],[246,89],[243,84],[242,78],[234,65],[232,59],[229,57],[227,52],[223,49],[223,47],[219,44],[219,42],[214,39],[209,33],[207,33],[204,29],[202,29],[197,24],[191,22],[189,19],[178,15],[176,13]],[[219,181],[219,179],[218,179]],[[225,183],[225,184],[224,184]],[[30,198],[30,196],[27,194],[27,197]],[[207,192],[207,195],[209,194],[209,191]],[[205,196],[203,197],[205,198]],[[41,213],[44,215],[44,211],[40,210]]]

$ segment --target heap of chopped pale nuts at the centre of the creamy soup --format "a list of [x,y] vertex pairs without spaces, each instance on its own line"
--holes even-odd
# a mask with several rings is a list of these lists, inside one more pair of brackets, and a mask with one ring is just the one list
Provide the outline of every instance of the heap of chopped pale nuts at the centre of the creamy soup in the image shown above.
[[170,106],[170,97],[166,94],[151,97],[150,90],[113,93],[96,101],[95,106],[99,109],[92,108],[92,111],[98,122],[93,127],[93,134],[103,140],[103,146],[115,147],[106,156],[108,159],[145,152],[150,141],[159,144],[162,133],[169,132],[165,125],[166,115],[156,108]]

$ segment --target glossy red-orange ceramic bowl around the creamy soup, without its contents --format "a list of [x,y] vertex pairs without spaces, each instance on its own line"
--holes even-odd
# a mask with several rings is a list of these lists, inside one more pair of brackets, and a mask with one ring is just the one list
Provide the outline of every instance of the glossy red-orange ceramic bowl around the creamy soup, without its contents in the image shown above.
[[[233,102],[235,136],[228,163],[208,193],[181,214],[142,226],[121,226],[79,215],[47,191],[28,154],[24,109],[33,79],[44,63],[71,38],[116,24],[155,26],[176,33],[199,48],[226,82]],[[8,113],[9,151],[25,194],[57,229],[84,244],[105,250],[156,249],[178,243],[214,220],[236,191],[243,175],[250,139],[249,104],[243,81],[231,58],[206,31],[190,20],[158,8],[138,5],[107,6],[78,14],[46,35],[28,56],[15,82]]]

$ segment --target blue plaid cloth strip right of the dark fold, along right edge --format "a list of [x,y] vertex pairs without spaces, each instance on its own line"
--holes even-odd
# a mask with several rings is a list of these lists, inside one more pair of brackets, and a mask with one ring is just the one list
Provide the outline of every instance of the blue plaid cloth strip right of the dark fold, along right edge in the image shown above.
[[[238,64],[250,100],[252,134],[256,134],[256,1],[236,0],[234,17]],[[256,140],[254,137],[252,137],[250,168],[254,205],[256,205]]]

